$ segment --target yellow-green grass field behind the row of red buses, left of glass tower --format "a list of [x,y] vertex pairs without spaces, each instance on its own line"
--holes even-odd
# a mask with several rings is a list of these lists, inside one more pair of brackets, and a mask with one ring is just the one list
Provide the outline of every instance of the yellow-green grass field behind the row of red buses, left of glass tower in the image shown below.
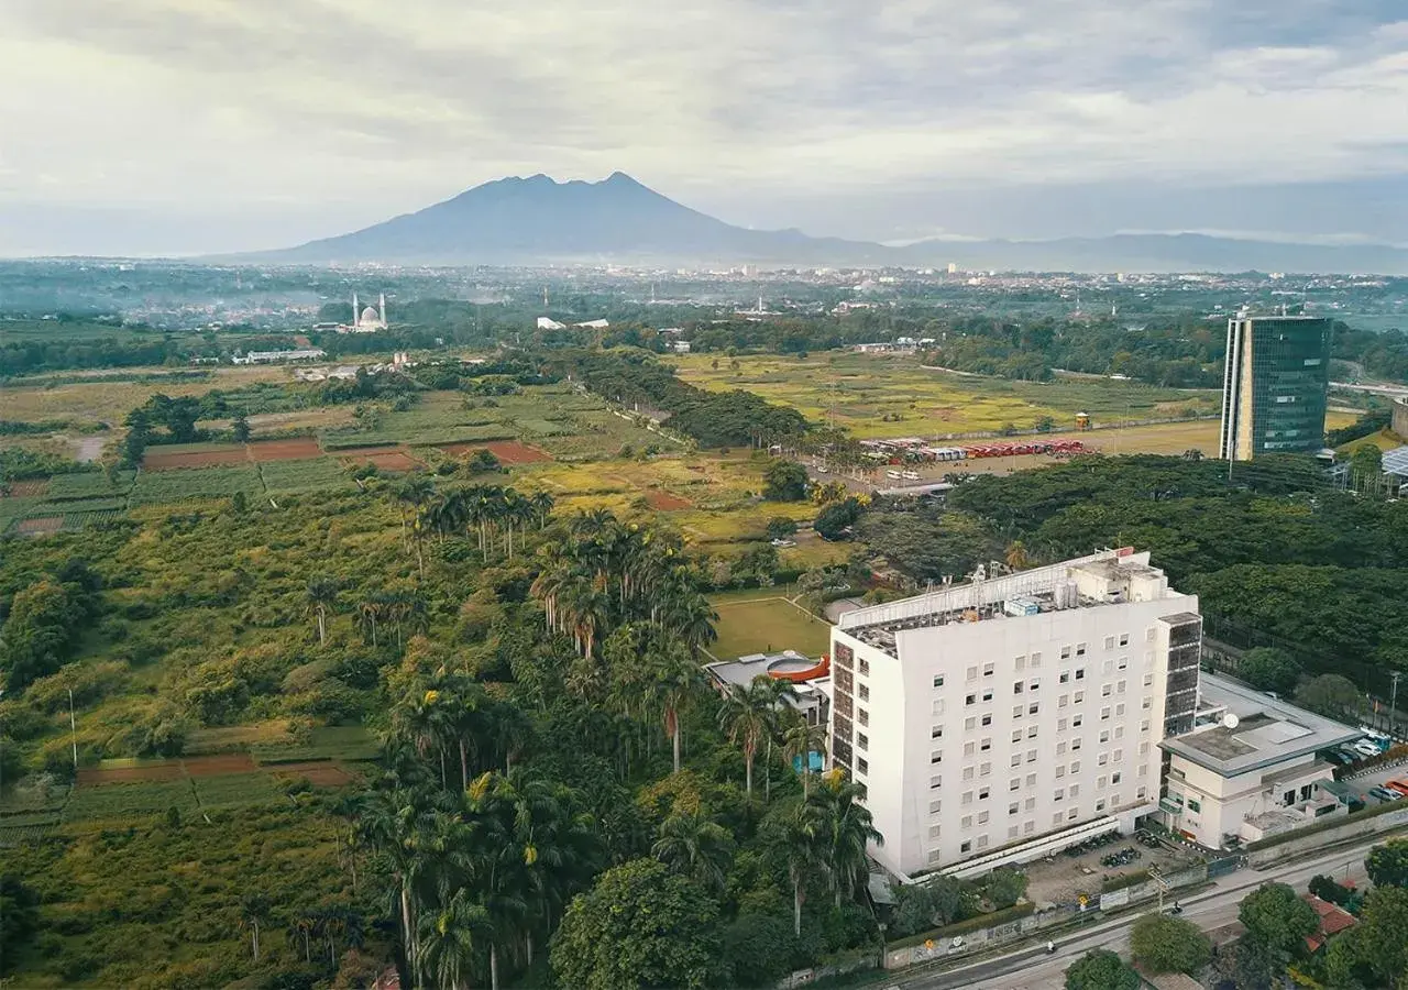
[[738,358],[712,366],[710,355],[672,359],[686,382],[703,389],[748,389],[855,437],[942,437],[1031,428],[1042,417],[1071,422],[1077,411],[1095,421],[1148,420],[1217,410],[1218,393],[1157,389],[1108,379],[1011,382],[921,368],[914,358],[819,355]]

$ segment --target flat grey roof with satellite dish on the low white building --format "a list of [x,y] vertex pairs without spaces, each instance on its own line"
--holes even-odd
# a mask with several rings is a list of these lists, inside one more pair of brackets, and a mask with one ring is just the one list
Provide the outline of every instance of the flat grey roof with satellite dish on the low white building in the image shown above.
[[1266,769],[1363,735],[1356,728],[1205,672],[1198,683],[1194,721],[1191,732],[1159,745],[1224,777]]

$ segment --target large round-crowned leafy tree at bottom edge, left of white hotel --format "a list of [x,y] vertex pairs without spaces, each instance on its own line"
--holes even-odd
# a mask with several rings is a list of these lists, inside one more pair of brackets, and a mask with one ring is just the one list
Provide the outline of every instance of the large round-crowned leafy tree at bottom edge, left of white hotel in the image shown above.
[[653,859],[622,863],[573,900],[551,963],[558,983],[576,990],[717,986],[718,904]]

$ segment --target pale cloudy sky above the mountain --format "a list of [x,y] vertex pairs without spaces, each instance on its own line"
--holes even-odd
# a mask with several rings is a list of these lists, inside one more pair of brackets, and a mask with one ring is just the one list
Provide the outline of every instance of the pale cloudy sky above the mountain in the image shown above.
[[0,0],[0,253],[625,170],[880,241],[1408,242],[1408,0]]

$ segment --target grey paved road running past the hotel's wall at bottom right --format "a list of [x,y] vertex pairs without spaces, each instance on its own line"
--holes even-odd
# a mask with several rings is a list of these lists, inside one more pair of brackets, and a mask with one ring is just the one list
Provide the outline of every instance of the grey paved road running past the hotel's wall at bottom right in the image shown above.
[[[1252,870],[1243,869],[1214,882],[1214,887],[1180,898],[1183,917],[1198,924],[1200,928],[1212,929],[1236,920],[1238,906],[1246,893],[1263,883],[1277,880],[1288,883],[1298,890],[1316,873],[1328,873],[1339,882],[1345,879],[1364,880],[1364,853],[1384,841],[1385,837],[1376,835],[1364,842],[1326,852],[1309,859],[1301,859],[1287,866]],[[1112,949],[1128,953],[1129,925],[1139,917],[1138,913],[1119,915],[1108,921],[1090,925],[1087,931],[1057,936],[1055,955],[1046,955],[1045,948],[1033,946],[1018,949],[1010,955],[986,962],[949,969],[941,973],[917,973],[910,977],[898,976],[894,986],[904,990],[956,990],[957,987],[972,987],[973,990],[1057,990],[1064,986],[1062,973],[1076,959],[1090,949]]]

